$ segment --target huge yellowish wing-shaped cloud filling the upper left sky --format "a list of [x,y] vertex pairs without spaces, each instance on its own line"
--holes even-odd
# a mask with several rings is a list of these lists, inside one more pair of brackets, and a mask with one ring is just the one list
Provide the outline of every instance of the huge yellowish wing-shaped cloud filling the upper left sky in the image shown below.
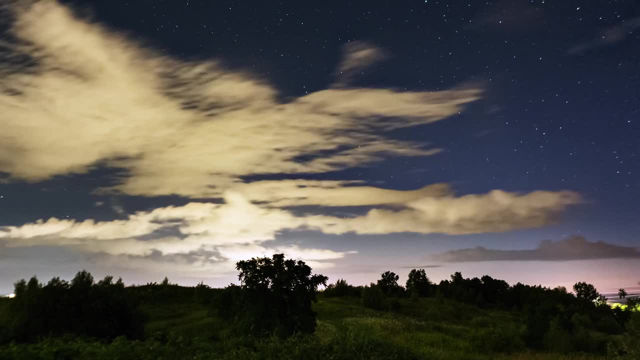
[[[340,88],[282,102],[255,74],[161,56],[56,1],[15,10],[11,31],[17,40],[6,51],[35,64],[0,65],[0,171],[14,180],[101,165],[125,171],[108,190],[220,197],[252,174],[323,173],[390,154],[435,154],[383,133],[445,119],[481,94]],[[356,47],[343,69],[376,58]]]

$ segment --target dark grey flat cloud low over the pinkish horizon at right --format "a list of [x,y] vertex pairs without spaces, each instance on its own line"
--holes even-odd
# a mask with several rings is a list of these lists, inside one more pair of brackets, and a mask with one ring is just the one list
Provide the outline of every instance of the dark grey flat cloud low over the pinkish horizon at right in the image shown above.
[[605,243],[591,242],[582,236],[569,236],[564,240],[545,240],[533,250],[475,249],[451,250],[433,256],[448,263],[471,261],[568,261],[584,259],[640,258],[640,250]]

